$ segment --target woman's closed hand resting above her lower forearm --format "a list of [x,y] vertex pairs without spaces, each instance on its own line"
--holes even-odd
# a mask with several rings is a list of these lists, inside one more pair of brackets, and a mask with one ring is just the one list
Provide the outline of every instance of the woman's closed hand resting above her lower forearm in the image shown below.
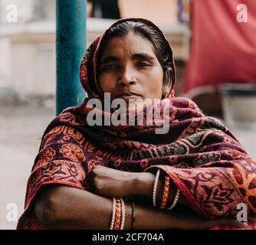
[[139,174],[96,165],[85,178],[85,187],[104,197],[125,198],[134,194],[134,184]]

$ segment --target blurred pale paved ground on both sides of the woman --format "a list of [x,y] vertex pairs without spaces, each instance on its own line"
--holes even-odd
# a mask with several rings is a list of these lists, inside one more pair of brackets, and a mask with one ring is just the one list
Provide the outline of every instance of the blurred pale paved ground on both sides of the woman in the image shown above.
[[[53,118],[53,106],[0,104],[0,229],[16,227],[15,221],[7,221],[7,205],[17,204],[18,217],[21,215],[26,182],[38,152],[40,138]],[[232,132],[250,155],[256,158],[256,131],[234,129]]]

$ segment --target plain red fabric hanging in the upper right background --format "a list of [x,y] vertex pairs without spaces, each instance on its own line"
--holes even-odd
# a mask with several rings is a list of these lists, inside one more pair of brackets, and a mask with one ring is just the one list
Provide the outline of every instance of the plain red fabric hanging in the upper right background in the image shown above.
[[[247,23],[237,21],[241,3],[248,8]],[[222,83],[256,83],[256,2],[192,0],[191,11],[192,40],[183,92]]]

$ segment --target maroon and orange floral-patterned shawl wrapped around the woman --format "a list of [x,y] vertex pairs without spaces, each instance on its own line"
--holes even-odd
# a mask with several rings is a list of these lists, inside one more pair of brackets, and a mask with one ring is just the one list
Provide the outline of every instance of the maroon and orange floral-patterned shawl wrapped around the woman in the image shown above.
[[[133,19],[138,20],[162,34],[151,22]],[[80,80],[90,98],[100,97],[96,62],[101,38],[90,45],[80,66]],[[94,165],[128,172],[161,168],[203,217],[235,217],[239,203],[248,204],[250,214],[256,214],[256,162],[238,140],[191,100],[172,93],[159,103],[170,106],[169,132],[164,135],[155,133],[155,125],[88,126],[87,99],[57,116],[44,132],[18,228],[46,228],[30,208],[38,191],[53,183],[86,191],[84,178]]]

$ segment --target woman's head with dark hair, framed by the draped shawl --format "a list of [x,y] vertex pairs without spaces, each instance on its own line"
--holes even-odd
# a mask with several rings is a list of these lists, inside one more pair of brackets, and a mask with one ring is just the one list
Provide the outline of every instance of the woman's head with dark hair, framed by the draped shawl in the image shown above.
[[[117,21],[95,43],[87,51],[80,72],[87,78],[81,80],[89,96],[90,90],[97,90],[101,96],[110,93],[111,99],[130,99],[123,93],[131,92],[136,100],[145,100],[161,99],[172,92],[176,82],[172,49],[152,22],[140,18]],[[88,67],[91,64],[94,67]],[[84,74],[88,72],[87,77]]]

